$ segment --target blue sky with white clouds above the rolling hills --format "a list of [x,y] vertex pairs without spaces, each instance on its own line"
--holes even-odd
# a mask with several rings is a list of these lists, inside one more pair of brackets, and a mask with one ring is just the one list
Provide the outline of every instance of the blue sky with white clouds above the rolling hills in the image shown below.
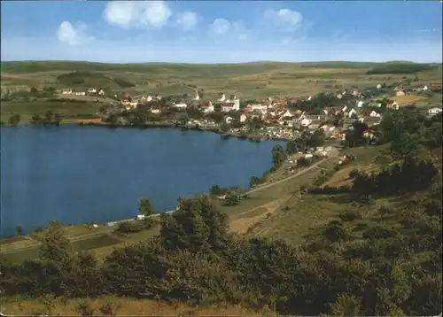
[[2,60],[442,60],[440,1],[9,1],[1,5]]

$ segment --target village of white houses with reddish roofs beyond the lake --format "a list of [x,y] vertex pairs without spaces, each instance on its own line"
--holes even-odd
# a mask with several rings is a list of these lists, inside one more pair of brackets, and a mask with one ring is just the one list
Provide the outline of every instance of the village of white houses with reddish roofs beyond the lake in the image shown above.
[[[113,94],[114,102],[106,104],[97,113],[105,122],[113,118],[113,124],[131,125],[130,118],[144,114],[144,120],[161,122],[183,128],[199,128],[222,132],[252,140],[292,140],[303,131],[315,133],[322,130],[327,139],[344,140],[346,130],[358,120],[369,128],[377,126],[386,111],[396,111],[398,100],[408,97],[408,104],[415,104],[426,97],[441,94],[441,84],[392,88],[378,83],[369,89],[340,89],[303,97],[268,97],[266,100],[242,101],[236,95],[226,97],[220,93],[214,100],[202,100],[196,96],[160,97]],[[73,92],[62,89],[63,96],[106,96],[105,89],[89,88]],[[423,105],[423,104],[422,104]],[[427,104],[421,107],[428,115],[442,111],[441,106]],[[370,134],[370,129],[366,134]]]

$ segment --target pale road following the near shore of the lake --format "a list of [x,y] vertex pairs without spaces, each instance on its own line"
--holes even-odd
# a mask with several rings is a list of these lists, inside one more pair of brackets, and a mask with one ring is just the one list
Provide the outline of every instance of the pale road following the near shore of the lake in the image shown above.
[[[313,164],[312,166],[308,166],[307,168],[299,171],[299,173],[297,174],[293,174],[291,176],[288,176],[286,178],[284,178],[283,180],[280,181],[276,181],[276,182],[269,182],[268,184],[264,184],[261,185],[260,187],[248,190],[247,192],[244,193],[244,195],[248,195],[248,194],[252,194],[254,192],[260,191],[262,189],[268,189],[269,187],[272,187],[276,184],[280,184],[282,182],[287,182],[290,181],[294,178],[297,178],[303,174],[306,174],[307,172],[313,170],[315,167],[319,166],[320,164],[322,164],[323,162],[326,162],[327,160],[329,160],[330,158],[337,158],[338,157],[338,151],[337,149],[333,149],[332,151],[330,151],[330,155],[328,158],[323,158],[321,160],[319,160],[318,162],[316,162],[315,164]],[[175,210],[171,210],[165,213],[174,213]],[[150,217],[158,217],[161,213],[155,213],[152,214]],[[115,222],[122,222],[122,221],[129,221],[129,220],[120,220],[120,221],[115,221]],[[96,236],[101,236],[104,234],[108,234],[113,232],[113,227],[110,228],[106,228],[106,230],[100,230],[99,232],[92,232],[89,234],[85,234],[82,236],[73,236],[73,237],[68,237],[70,242],[76,242],[76,241],[81,241],[81,240],[86,240],[86,239],[90,239],[92,237],[96,237]],[[31,237],[27,236],[27,241],[28,243],[30,242],[29,240],[32,239]],[[34,240],[34,239],[32,239]],[[27,245],[20,245],[20,243],[22,243],[22,241],[16,242],[16,243],[11,243],[11,244],[3,244],[1,246],[1,253],[7,254],[7,253],[11,253],[11,252],[15,252],[15,251],[24,251],[27,249],[33,249],[36,246],[38,246],[40,243],[37,240],[34,240],[35,244],[27,244]],[[15,246],[15,247],[14,247]]]

